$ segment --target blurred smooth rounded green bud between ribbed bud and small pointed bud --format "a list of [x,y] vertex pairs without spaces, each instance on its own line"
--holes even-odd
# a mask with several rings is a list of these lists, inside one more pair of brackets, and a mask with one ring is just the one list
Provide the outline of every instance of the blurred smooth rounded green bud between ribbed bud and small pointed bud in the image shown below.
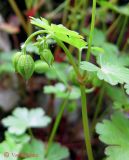
[[46,62],[44,62],[42,60],[38,60],[38,61],[35,62],[34,71],[36,73],[44,73],[48,70],[49,70],[49,65]]

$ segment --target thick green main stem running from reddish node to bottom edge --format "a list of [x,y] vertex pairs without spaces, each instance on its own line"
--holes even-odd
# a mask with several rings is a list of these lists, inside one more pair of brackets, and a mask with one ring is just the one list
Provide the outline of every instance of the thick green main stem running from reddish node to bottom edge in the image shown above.
[[85,144],[87,148],[87,155],[88,155],[88,160],[94,160],[92,147],[91,147],[89,125],[88,125],[85,86],[80,85],[80,90],[81,90],[81,101],[82,101],[82,120],[83,120],[84,138],[85,138]]

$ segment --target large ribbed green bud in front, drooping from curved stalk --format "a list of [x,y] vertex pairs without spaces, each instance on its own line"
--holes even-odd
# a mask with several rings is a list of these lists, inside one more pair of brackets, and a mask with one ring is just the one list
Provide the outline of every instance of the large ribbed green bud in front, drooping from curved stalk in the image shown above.
[[25,80],[28,80],[34,72],[33,58],[26,54],[20,56],[17,64],[17,70]]

